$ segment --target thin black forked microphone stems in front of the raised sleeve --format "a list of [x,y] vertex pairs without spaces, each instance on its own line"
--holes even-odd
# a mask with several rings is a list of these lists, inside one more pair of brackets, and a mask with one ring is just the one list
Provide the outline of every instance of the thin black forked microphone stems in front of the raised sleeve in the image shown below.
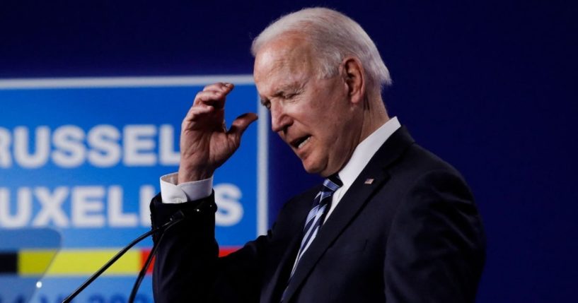
[[[201,205],[198,206],[197,208],[195,208],[194,211],[199,213],[200,207],[201,207]],[[149,237],[151,234],[156,234],[157,232],[161,232],[161,237],[159,237],[158,241],[153,245],[153,248],[151,249],[151,253],[149,254],[149,257],[146,259],[146,262],[144,263],[144,266],[141,269],[139,276],[137,277],[137,281],[135,281],[134,286],[132,287],[132,292],[131,292],[131,295],[129,297],[129,302],[134,302],[134,297],[137,296],[137,291],[138,291],[139,286],[142,282],[142,279],[144,278],[144,275],[146,274],[146,269],[149,268],[149,266],[151,265],[153,256],[154,256],[154,254],[156,254],[156,250],[158,249],[158,244],[161,243],[166,230],[168,230],[170,227],[173,227],[174,225],[178,224],[179,222],[182,222],[185,219],[186,219],[185,213],[183,213],[183,210],[179,210],[178,212],[174,213],[170,217],[170,220],[168,222],[166,222],[164,225],[162,225],[161,227],[156,227],[154,230],[149,230],[148,232],[141,234],[140,237],[138,237],[137,239],[134,239],[132,242],[130,242],[127,246],[125,246],[125,248],[121,249],[115,256],[113,256],[112,259],[110,259],[107,263],[105,263],[105,265],[103,265],[103,267],[101,267],[98,271],[96,271],[96,273],[91,275],[91,278],[88,278],[86,281],[84,281],[84,283],[82,283],[82,285],[80,285],[79,288],[77,288],[68,297],[66,297],[66,299],[64,299],[64,301],[62,301],[62,303],[71,302],[72,299],[74,299],[74,297],[79,295],[79,293],[81,293],[88,285],[91,285],[91,283],[93,283],[93,281],[96,280],[96,278],[98,278],[110,266],[112,266],[112,264],[114,264],[118,259],[120,259],[120,257],[122,255],[124,255],[127,251],[129,251],[129,249],[131,249],[132,246],[141,242],[143,239],[146,239],[146,237]]]

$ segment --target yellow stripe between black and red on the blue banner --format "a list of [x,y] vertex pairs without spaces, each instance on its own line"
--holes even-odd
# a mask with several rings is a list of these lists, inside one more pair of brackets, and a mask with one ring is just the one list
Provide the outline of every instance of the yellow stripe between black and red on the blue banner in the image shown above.
[[[112,256],[115,256],[117,252],[114,249],[67,249],[60,251],[54,261],[52,261],[52,265],[46,275],[91,275],[108,262]],[[31,266],[33,258],[41,258],[40,255],[30,254],[28,251],[25,254],[21,251],[20,255],[21,259],[23,259],[21,268],[24,270],[33,268]],[[140,258],[140,251],[128,251],[115,264],[110,266],[103,275],[134,275],[140,270]],[[30,266],[26,266],[26,262],[29,262]],[[19,273],[21,275],[33,274],[32,271],[19,271]]]

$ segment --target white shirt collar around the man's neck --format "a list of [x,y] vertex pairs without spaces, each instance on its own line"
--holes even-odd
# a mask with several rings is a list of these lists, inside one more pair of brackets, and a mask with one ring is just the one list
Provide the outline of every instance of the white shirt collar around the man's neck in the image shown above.
[[351,158],[339,172],[339,177],[345,187],[351,186],[381,145],[400,127],[398,117],[393,117],[357,145]]

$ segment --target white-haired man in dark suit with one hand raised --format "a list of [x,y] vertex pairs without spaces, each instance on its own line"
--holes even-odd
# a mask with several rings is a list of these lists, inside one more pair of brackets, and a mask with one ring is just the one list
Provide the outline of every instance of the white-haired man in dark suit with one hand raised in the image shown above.
[[212,176],[257,117],[227,130],[233,85],[205,87],[183,120],[178,173],[161,178],[151,204],[154,226],[178,210],[188,218],[160,244],[156,301],[473,302],[485,260],[473,197],[388,117],[388,70],[364,30],[308,8],[270,25],[252,51],[272,130],[328,179],[288,201],[266,236],[219,259]]

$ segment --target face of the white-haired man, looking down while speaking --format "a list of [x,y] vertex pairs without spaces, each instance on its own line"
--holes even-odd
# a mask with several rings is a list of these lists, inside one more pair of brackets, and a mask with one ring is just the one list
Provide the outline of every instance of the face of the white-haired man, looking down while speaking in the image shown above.
[[[342,73],[320,79],[305,40],[284,35],[255,56],[255,84],[271,112],[272,130],[309,173],[338,172],[359,143],[362,119]],[[357,117],[357,118],[356,118]]]

